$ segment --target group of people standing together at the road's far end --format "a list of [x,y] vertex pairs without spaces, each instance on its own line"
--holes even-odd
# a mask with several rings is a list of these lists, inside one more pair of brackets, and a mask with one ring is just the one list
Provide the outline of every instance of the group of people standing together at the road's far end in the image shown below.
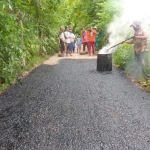
[[72,28],[60,26],[58,34],[60,53],[72,56],[72,52],[75,52],[75,45],[77,46],[77,52],[80,52],[83,44],[83,51],[86,51],[87,47],[89,56],[93,56],[95,55],[95,48],[98,47],[99,34],[97,27],[89,27],[87,30],[82,28],[81,34],[79,33],[76,37],[72,32]]

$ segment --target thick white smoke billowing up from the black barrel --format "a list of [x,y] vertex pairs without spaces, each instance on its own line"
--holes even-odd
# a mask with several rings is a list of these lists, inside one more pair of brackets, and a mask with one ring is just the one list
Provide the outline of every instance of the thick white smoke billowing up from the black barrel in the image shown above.
[[149,0],[120,0],[119,2],[123,10],[121,14],[114,16],[113,21],[108,25],[109,44],[100,50],[99,53],[111,53],[117,47],[109,51],[106,51],[106,49],[131,37],[134,30],[130,25],[135,20],[140,21],[142,28],[150,35]]

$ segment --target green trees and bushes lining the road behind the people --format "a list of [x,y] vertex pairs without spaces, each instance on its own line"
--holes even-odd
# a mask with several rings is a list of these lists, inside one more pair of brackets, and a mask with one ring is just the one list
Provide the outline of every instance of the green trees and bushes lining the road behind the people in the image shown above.
[[[118,0],[1,0],[0,91],[16,82],[16,76],[58,52],[60,25],[72,26],[75,33],[96,25],[102,31],[101,49],[108,43],[107,25],[120,11]],[[131,52],[131,46],[120,46],[114,64],[124,70]],[[144,81],[145,85],[150,89],[149,81]]]

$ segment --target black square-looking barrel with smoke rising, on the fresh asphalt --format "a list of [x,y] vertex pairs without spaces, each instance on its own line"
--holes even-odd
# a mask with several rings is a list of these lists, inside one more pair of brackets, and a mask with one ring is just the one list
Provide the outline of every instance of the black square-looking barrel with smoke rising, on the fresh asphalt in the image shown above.
[[98,54],[97,71],[112,71],[112,54]]

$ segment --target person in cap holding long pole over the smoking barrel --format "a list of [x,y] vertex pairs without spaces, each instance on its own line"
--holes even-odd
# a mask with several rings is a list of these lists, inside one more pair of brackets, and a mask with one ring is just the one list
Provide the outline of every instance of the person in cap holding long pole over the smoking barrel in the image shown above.
[[[126,72],[135,78],[150,78],[148,72],[148,35],[142,29],[140,21],[134,21],[131,25],[134,29],[134,35],[130,40],[125,41],[128,44],[134,44],[134,60],[126,68]],[[122,42],[124,43],[124,42]]]

